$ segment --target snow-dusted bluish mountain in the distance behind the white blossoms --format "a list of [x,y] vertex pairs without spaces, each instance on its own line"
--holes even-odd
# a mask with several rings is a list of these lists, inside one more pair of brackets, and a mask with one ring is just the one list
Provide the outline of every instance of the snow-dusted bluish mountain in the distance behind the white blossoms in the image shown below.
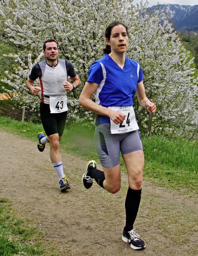
[[[198,30],[198,5],[160,4],[159,7],[174,22],[176,29]],[[154,5],[149,9],[156,11],[158,6]]]

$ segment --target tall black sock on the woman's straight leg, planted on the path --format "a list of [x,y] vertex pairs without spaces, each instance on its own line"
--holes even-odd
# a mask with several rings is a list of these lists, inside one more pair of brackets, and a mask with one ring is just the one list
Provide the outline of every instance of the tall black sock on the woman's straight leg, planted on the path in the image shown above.
[[127,196],[125,200],[125,210],[126,210],[126,226],[124,228],[125,232],[130,231],[133,229],[133,224],[136,220],[136,216],[138,213],[140,199],[141,199],[141,192],[140,190],[134,190],[130,187],[127,191]]

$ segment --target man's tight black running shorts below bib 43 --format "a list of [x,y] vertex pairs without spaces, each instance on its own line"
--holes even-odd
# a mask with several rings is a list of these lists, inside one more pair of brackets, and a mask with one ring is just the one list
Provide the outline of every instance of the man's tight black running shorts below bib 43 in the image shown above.
[[62,136],[65,122],[67,118],[67,111],[62,113],[50,113],[49,104],[40,104],[41,122],[47,136],[58,133]]

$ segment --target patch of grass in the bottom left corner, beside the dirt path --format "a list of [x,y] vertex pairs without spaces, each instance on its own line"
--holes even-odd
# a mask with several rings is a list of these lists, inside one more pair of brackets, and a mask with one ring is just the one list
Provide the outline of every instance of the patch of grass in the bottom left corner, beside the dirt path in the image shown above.
[[43,247],[44,234],[28,219],[17,217],[11,203],[0,197],[0,255],[50,255],[57,256],[53,249]]

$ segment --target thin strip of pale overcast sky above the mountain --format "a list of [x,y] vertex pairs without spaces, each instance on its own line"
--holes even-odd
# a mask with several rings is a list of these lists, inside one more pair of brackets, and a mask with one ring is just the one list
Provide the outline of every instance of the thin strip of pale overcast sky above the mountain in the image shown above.
[[[143,0],[146,2],[146,0]],[[171,4],[180,4],[180,5],[198,5],[198,0],[148,0],[149,6],[157,5],[159,2],[160,4],[171,3]],[[133,5],[136,3],[140,3],[140,0],[134,0]]]

